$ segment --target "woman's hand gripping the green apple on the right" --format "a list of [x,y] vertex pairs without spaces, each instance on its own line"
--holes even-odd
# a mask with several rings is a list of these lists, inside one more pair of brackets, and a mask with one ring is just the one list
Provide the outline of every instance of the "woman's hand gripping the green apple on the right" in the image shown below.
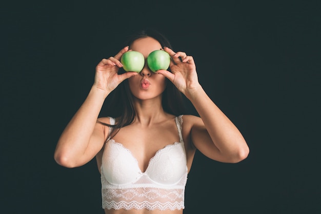
[[189,98],[189,95],[200,87],[193,57],[187,56],[185,52],[175,53],[168,47],[165,47],[164,50],[171,56],[169,65],[171,72],[158,70],[157,73],[166,76],[180,92]]

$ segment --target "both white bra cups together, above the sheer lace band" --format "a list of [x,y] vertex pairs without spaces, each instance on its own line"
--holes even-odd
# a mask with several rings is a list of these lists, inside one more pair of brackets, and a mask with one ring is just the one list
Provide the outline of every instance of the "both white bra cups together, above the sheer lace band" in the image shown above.
[[101,169],[108,183],[116,186],[133,184],[143,176],[155,184],[176,185],[187,173],[184,143],[158,150],[143,173],[131,151],[111,139],[106,143]]

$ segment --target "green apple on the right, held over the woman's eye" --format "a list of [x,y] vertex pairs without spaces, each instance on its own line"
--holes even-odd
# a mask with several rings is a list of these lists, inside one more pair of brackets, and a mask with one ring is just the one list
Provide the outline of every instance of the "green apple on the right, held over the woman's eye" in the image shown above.
[[156,72],[157,70],[167,70],[171,62],[170,55],[164,50],[154,50],[147,57],[148,67]]

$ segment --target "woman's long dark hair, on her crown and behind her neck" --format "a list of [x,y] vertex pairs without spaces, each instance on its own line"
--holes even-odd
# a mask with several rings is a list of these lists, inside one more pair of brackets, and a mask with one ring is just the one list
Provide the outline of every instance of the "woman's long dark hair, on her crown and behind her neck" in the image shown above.
[[[172,46],[166,36],[155,29],[143,29],[134,32],[132,35],[128,35],[125,40],[124,46],[130,45],[138,38],[152,37],[157,40],[162,47]],[[169,69],[170,71],[170,69]],[[119,69],[119,73],[125,72],[124,69]],[[136,117],[136,111],[133,102],[133,95],[129,89],[128,80],[123,81],[117,86],[107,97],[105,103],[107,107],[102,111],[107,112],[107,116],[116,118],[116,123],[113,125],[113,131],[109,137],[113,137],[117,131],[127,125],[130,125]],[[166,88],[162,96],[162,106],[165,112],[173,114],[175,116],[185,114],[186,109],[184,105],[182,93],[166,78]],[[102,123],[97,121],[98,123]],[[109,124],[102,123],[107,126]]]

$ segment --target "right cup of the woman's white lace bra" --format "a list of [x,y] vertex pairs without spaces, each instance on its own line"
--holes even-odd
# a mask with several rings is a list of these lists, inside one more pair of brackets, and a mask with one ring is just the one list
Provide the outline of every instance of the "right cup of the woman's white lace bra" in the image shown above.
[[187,171],[184,143],[168,145],[157,151],[149,164],[145,173],[153,182],[162,185],[176,184]]

